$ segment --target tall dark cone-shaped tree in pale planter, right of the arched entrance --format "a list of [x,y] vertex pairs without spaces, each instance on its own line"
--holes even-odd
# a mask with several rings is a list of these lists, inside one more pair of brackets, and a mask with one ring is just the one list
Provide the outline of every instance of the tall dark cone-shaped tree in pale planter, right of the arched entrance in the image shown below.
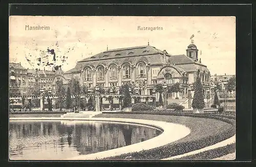
[[202,109],[205,107],[203,89],[202,89],[199,76],[197,77],[197,81],[195,85],[195,94],[194,94],[194,98],[191,106],[193,108],[199,108],[199,109]]

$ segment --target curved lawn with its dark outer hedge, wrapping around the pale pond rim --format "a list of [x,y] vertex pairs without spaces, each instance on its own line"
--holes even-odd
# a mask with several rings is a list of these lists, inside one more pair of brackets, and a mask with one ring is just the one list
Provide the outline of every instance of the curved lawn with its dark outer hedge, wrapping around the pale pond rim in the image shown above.
[[[142,115],[143,114],[143,115]],[[181,117],[182,116],[182,117]],[[175,155],[198,150],[224,141],[236,133],[235,120],[232,116],[216,116],[209,114],[184,113],[120,113],[100,114],[95,117],[129,118],[165,121],[182,124],[190,128],[191,133],[176,142],[140,152],[132,152],[119,156],[106,157],[105,160],[159,160]]]

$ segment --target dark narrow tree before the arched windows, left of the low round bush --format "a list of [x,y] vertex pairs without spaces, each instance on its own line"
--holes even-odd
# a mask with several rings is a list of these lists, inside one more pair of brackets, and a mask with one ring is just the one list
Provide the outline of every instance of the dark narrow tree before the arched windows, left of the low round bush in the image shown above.
[[129,88],[131,88],[131,85],[129,84],[124,84],[120,87],[120,94],[122,95],[122,100],[123,100],[122,106],[124,108],[132,107],[132,97],[131,97]]

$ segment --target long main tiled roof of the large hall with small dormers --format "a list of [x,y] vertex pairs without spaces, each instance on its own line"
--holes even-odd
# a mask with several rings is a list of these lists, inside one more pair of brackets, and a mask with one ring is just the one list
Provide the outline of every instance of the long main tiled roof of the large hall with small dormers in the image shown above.
[[96,55],[93,55],[90,58],[83,59],[79,62],[87,62],[87,61],[96,61],[96,60],[104,60],[104,59],[118,59],[118,58],[126,58],[126,57],[133,57],[136,55],[143,55],[143,54],[157,54],[162,53],[163,51],[156,49],[153,46],[146,45],[146,46],[137,46],[137,47],[127,47],[127,48],[119,48],[119,49],[112,49],[106,50]]

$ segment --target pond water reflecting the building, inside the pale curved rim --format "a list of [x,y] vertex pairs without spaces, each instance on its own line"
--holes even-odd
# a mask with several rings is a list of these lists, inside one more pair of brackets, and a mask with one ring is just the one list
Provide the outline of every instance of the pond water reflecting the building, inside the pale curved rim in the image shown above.
[[161,131],[104,122],[11,122],[10,159],[65,159],[143,142]]

